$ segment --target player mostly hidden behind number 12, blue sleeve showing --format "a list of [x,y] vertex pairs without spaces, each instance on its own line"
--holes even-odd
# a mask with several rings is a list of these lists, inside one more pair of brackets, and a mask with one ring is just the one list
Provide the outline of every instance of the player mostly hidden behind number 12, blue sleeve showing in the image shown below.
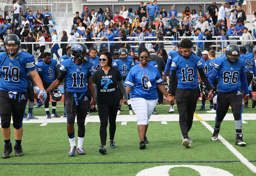
[[[182,53],[179,44],[177,45],[177,48],[178,48],[178,51],[170,51],[168,54],[168,60],[167,60],[166,67],[164,68],[164,72],[163,72],[163,81],[166,81],[167,74],[170,74],[170,68],[172,66],[172,59]],[[178,74],[176,74],[176,77],[175,77],[175,87],[177,86],[177,84],[178,84]],[[168,113],[174,113],[174,102],[171,103]]]

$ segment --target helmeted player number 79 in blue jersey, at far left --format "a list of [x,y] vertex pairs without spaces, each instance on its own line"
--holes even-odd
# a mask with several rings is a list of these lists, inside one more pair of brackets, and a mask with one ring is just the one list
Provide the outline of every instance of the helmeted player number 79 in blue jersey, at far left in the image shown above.
[[4,140],[4,151],[2,158],[8,158],[12,153],[11,137],[11,116],[13,120],[15,135],[15,156],[23,156],[21,139],[23,134],[23,114],[27,99],[27,73],[40,88],[41,99],[46,99],[40,77],[35,71],[35,59],[29,53],[18,52],[20,39],[15,34],[8,34],[4,38],[3,45],[5,52],[0,53],[0,117],[1,132]]

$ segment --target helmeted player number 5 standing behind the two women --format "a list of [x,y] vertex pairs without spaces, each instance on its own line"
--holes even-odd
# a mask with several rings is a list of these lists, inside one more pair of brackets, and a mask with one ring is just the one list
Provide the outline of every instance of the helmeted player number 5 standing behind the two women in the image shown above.
[[[119,59],[113,61],[113,67],[117,68],[121,75],[123,81],[125,81],[128,73],[130,72],[131,68],[134,66],[134,61],[127,59],[128,57],[128,51],[125,48],[120,48],[119,49]],[[122,99],[123,99],[123,94],[122,91],[119,89],[119,94],[120,94],[120,104],[119,104],[119,109],[117,111],[117,115],[120,115],[121,113],[121,105],[122,105]],[[130,97],[128,94],[128,106],[129,106],[129,114],[133,115],[132,108],[131,108],[131,103],[130,103]]]

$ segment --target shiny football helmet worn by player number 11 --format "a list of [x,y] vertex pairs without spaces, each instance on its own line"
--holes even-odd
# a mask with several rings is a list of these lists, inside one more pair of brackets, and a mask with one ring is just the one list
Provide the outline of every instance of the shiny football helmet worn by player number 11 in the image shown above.
[[82,62],[88,62],[90,58],[89,50],[83,43],[76,43],[71,46],[71,57],[81,60]]

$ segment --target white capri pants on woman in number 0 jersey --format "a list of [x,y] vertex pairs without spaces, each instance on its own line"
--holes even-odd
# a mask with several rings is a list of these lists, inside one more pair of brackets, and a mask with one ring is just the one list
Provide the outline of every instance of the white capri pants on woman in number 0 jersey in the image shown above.
[[132,98],[131,107],[137,116],[137,125],[148,125],[148,120],[157,105],[158,99]]

